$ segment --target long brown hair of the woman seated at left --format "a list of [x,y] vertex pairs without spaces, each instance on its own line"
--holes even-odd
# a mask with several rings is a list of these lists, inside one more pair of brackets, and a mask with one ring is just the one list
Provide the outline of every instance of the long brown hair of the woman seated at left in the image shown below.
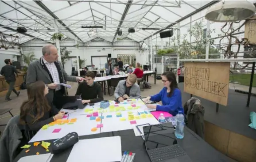
[[[44,90],[45,84],[43,81],[37,81],[27,86],[28,99],[20,106],[20,124],[33,124],[43,117],[46,111],[50,111],[50,105],[44,96]],[[34,119],[31,123],[26,122],[27,115],[30,115]]]

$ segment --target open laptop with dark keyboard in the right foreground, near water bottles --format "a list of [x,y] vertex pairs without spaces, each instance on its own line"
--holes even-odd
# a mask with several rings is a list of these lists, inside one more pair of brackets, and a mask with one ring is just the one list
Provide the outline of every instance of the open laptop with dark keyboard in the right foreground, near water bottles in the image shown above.
[[151,162],[192,162],[178,145],[172,123],[145,126],[143,132]]

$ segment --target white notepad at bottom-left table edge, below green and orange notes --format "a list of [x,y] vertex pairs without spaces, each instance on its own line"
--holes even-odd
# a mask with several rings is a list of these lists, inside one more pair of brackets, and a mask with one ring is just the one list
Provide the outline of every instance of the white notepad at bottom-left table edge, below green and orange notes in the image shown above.
[[53,154],[38,154],[38,155],[31,155],[31,156],[24,156],[19,159],[18,162],[50,162]]

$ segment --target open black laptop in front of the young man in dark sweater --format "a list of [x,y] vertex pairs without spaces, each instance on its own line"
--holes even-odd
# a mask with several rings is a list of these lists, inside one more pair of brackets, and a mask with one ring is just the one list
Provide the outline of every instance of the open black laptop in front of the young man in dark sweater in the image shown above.
[[57,109],[83,109],[85,105],[82,104],[81,96],[57,96]]

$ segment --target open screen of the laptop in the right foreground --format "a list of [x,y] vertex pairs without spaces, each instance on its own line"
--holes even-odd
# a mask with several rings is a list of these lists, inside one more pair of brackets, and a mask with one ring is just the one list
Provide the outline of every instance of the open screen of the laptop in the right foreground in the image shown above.
[[177,144],[172,123],[163,123],[143,127],[147,150]]

